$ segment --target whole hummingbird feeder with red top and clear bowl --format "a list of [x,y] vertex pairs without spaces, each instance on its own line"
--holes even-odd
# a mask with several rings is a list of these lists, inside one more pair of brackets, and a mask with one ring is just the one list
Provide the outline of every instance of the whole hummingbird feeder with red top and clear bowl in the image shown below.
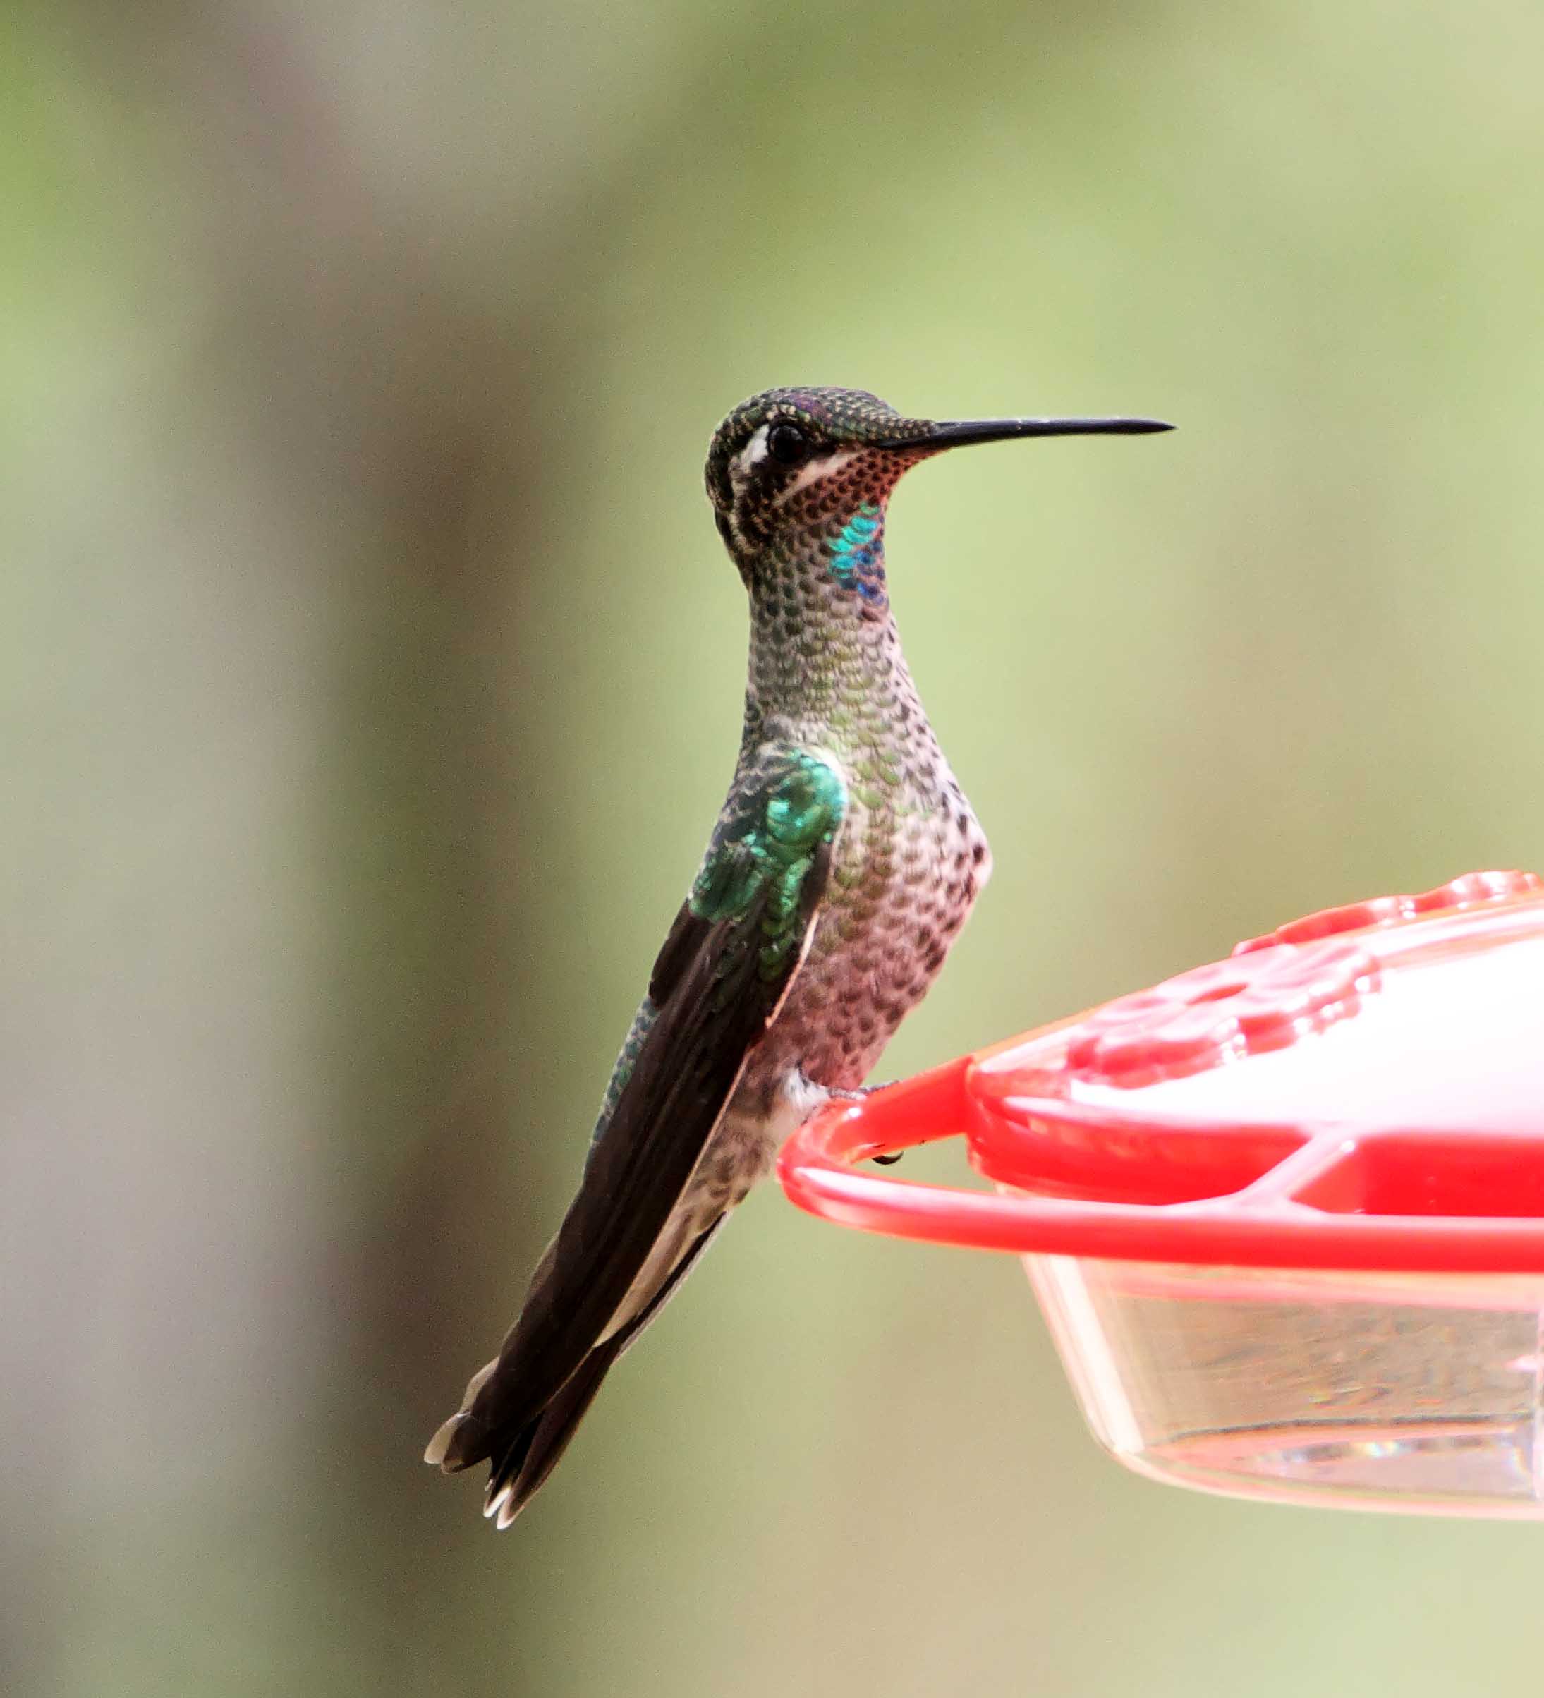
[[[854,1172],[965,1134],[995,1192]],[[1206,1491],[1544,1518],[1544,883],[1333,908],[832,1105],[803,1209],[1024,1258],[1096,1437]]]

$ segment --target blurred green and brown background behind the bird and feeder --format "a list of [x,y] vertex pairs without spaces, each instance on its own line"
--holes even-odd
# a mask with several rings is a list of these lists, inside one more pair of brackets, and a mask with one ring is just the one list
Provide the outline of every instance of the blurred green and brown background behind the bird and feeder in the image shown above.
[[1145,1484],[1011,1260],[773,1189],[511,1533],[418,1455],[729,776],[751,391],[1181,424],[895,499],[997,874],[887,1075],[1544,861],[1541,63],[1525,0],[5,10],[7,1693],[1537,1678],[1539,1528]]

